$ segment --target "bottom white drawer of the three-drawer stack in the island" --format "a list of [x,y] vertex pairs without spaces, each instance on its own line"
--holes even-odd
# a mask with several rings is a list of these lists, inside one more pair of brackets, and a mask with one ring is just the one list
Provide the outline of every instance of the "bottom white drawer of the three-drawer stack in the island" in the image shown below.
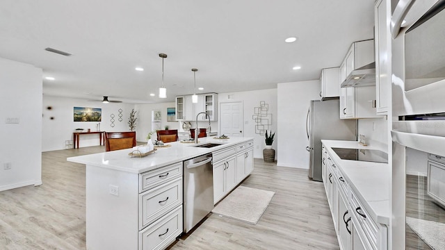
[[139,250],[165,249],[182,232],[182,206],[139,232]]

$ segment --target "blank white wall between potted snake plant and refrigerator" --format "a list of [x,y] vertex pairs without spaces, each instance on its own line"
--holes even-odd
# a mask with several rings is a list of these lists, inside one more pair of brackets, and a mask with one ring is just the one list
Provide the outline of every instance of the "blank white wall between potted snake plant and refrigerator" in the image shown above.
[[279,83],[277,90],[277,165],[309,169],[306,116],[310,101],[320,99],[320,81]]

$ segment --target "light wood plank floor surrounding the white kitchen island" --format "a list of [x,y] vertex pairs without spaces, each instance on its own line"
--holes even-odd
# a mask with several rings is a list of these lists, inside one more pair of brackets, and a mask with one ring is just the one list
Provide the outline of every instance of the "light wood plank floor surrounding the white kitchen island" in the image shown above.
[[[103,146],[42,153],[42,181],[0,192],[0,249],[86,249],[85,166],[67,157]],[[275,192],[257,225],[209,215],[170,249],[339,249],[323,183],[307,170],[254,160],[242,183]]]

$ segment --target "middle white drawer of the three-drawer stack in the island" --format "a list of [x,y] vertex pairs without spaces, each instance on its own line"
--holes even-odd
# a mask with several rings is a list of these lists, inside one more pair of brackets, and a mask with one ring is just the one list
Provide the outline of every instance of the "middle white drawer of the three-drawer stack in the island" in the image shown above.
[[182,203],[182,178],[139,194],[139,230]]

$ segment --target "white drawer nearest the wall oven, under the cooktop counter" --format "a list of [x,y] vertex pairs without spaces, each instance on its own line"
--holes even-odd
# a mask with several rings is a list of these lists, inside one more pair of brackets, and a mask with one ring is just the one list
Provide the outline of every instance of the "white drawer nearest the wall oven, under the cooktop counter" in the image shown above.
[[359,233],[363,231],[364,238],[368,241],[368,244],[371,245],[372,249],[378,250],[377,248],[377,238],[379,228],[377,224],[373,221],[369,213],[363,207],[362,203],[359,201],[357,197],[355,197],[354,192],[351,194],[350,206],[352,208],[353,217],[357,219],[359,222]]

